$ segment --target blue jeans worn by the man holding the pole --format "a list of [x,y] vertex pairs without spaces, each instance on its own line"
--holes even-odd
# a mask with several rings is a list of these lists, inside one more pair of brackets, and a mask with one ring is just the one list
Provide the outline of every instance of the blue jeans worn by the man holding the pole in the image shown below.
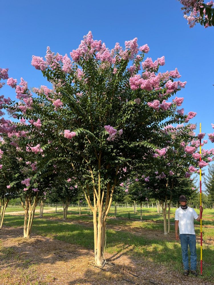
[[182,259],[184,270],[189,270],[189,259],[188,259],[188,245],[190,249],[190,264],[191,270],[196,270],[197,254],[196,254],[196,237],[195,235],[180,234]]

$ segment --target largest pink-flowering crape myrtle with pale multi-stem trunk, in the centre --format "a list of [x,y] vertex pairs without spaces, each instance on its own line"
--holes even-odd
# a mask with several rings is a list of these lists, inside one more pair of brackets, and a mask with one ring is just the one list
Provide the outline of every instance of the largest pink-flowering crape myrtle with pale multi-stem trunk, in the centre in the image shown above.
[[[186,82],[175,80],[180,77],[177,69],[158,72],[165,59],[144,60],[148,51],[148,45],[138,47],[137,38],[126,41],[125,49],[116,43],[109,50],[101,40],[93,40],[91,32],[70,53],[72,60],[48,47],[45,59],[33,56],[31,64],[52,88],[34,88],[34,97],[22,80],[15,86],[21,101],[9,106],[17,117],[30,122],[23,125],[31,140],[28,147],[42,149],[44,163],[58,160],[74,171],[93,212],[98,266],[106,262],[106,218],[115,186],[150,159],[152,150],[165,139],[160,132],[163,125],[183,122],[176,101],[167,100]],[[160,112],[153,107],[160,107]],[[36,125],[40,127],[33,137],[31,129]]]

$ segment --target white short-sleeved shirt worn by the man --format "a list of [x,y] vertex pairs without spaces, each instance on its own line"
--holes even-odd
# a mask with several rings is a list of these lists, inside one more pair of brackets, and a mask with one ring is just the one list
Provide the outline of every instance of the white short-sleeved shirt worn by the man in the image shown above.
[[179,207],[175,211],[175,221],[179,221],[179,233],[195,235],[194,219],[196,220],[197,218],[198,214],[193,208],[187,207],[186,210],[183,210],[181,207]]

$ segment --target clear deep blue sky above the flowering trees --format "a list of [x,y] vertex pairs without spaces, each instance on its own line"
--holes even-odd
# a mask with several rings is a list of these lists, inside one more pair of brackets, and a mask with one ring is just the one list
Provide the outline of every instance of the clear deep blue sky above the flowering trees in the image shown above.
[[[153,60],[165,56],[161,71],[177,67],[180,80],[187,81],[177,96],[184,97],[185,112],[197,112],[191,120],[198,123],[197,133],[199,122],[202,132],[214,131],[214,27],[190,29],[178,0],[8,0],[0,7],[0,67],[9,68],[9,77],[17,78],[18,83],[23,77],[29,87],[46,84],[41,72],[31,66],[31,58],[44,57],[47,46],[53,52],[69,54],[89,30],[108,48],[116,42],[124,46],[125,40],[137,37],[140,46],[149,45],[148,56]],[[7,86],[0,92],[15,99]]]

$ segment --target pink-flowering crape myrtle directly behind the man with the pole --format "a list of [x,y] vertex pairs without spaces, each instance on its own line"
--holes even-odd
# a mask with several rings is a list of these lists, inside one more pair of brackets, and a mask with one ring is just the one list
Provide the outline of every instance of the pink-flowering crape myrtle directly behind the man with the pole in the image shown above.
[[[188,122],[189,118],[187,117],[185,121]],[[190,179],[192,173],[199,173],[200,168],[212,161],[214,149],[203,149],[200,161],[199,139],[203,139],[205,134],[199,133],[195,136],[193,132],[195,128],[196,125],[193,124],[164,127],[165,145],[155,150],[150,170],[146,173],[147,177],[142,175],[141,178],[143,183],[146,182],[147,189],[152,190],[150,196],[160,201],[163,210],[164,234],[170,231],[171,201],[177,201],[178,196],[184,194],[187,186],[190,190],[195,190],[195,186],[191,182],[187,183],[186,180]],[[207,143],[207,140],[204,140],[202,146],[204,143]],[[167,201],[169,201],[168,230]]]

